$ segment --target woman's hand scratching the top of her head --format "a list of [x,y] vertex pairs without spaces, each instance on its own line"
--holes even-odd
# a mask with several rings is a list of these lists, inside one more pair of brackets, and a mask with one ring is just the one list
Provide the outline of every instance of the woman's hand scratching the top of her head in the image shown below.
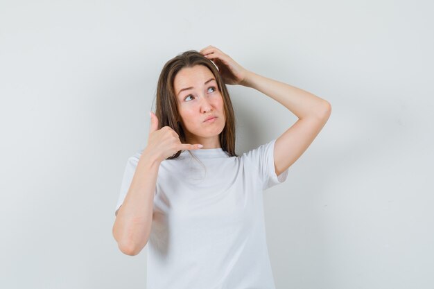
[[227,85],[244,85],[248,71],[236,63],[229,55],[214,46],[207,46],[199,51],[206,58],[214,62],[220,76]]

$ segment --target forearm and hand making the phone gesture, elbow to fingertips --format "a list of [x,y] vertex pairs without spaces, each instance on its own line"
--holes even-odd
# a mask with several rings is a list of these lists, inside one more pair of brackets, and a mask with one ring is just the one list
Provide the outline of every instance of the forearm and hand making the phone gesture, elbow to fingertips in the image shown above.
[[119,249],[131,256],[139,254],[148,243],[160,164],[179,150],[200,149],[198,144],[181,143],[179,135],[168,126],[158,130],[157,116],[153,113],[150,116],[148,145],[137,163],[113,225],[113,236]]

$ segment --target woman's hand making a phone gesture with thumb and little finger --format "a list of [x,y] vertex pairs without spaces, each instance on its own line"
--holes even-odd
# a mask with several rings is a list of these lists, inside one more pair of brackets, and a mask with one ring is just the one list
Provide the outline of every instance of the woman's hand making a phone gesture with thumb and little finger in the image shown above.
[[158,118],[150,112],[150,128],[148,146],[146,150],[150,155],[157,157],[159,161],[164,161],[168,157],[175,155],[179,150],[198,150],[202,145],[181,143],[180,136],[169,126],[157,130]]

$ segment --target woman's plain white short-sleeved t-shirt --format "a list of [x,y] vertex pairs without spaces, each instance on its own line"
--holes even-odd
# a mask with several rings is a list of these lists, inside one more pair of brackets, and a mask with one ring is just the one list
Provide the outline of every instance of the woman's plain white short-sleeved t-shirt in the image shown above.
[[[187,150],[161,162],[145,246],[148,289],[275,289],[263,190],[288,176],[288,169],[275,173],[275,141],[239,157],[222,148],[190,150],[203,165]],[[141,152],[128,159],[115,211]]]

